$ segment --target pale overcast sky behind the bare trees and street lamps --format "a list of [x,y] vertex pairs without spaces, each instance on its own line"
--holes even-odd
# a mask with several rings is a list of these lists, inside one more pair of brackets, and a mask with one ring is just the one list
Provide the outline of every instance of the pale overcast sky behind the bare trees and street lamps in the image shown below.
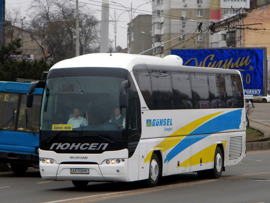
[[[57,1],[57,0],[55,0]],[[76,4],[76,0],[72,0],[74,4]],[[114,4],[110,2],[110,20],[112,18],[114,19],[114,10],[116,11],[116,19],[119,17],[120,14],[122,14],[124,11],[126,11],[126,8],[130,10],[131,8],[131,2],[132,2],[132,11],[134,12],[134,9],[136,9],[138,6],[139,8],[136,9],[135,13],[132,12],[133,18],[135,18],[139,14],[151,14],[151,1],[150,0],[114,0],[115,2],[122,4],[123,6],[119,4]],[[112,0],[113,1],[113,0]],[[20,8],[20,15],[21,18],[26,16],[25,21],[30,20],[27,18],[26,9],[31,4],[31,0],[6,0],[6,9],[8,10],[16,10],[16,8]],[[149,2],[148,4],[145,4]],[[95,11],[95,15],[97,19],[101,19],[101,5],[102,0],[79,0],[79,5],[85,3],[89,8],[93,9]],[[142,5],[144,4],[144,5]],[[141,5],[141,6],[140,6]],[[129,11],[130,14],[130,11]],[[128,12],[124,12],[117,21],[117,34],[116,34],[116,46],[121,46],[122,48],[127,47],[127,23],[129,22],[129,14]],[[150,33],[149,33],[150,34]],[[109,39],[113,40],[113,46],[114,46],[114,29],[113,29],[113,23],[110,22],[109,25]]]

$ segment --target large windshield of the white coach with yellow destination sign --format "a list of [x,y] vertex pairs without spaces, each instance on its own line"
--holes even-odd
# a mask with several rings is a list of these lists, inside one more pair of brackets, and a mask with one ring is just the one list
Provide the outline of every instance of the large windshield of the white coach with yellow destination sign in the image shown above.
[[119,87],[126,78],[123,68],[50,70],[42,101],[40,139],[72,140],[79,136],[85,140],[123,140],[126,116],[125,109],[119,109]]

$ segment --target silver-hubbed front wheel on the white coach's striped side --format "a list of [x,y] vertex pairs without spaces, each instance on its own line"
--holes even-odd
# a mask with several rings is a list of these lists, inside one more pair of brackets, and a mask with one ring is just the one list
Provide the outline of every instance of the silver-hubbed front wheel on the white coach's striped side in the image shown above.
[[160,175],[159,160],[156,153],[153,153],[149,166],[149,178],[147,179],[147,186],[153,188],[157,185]]

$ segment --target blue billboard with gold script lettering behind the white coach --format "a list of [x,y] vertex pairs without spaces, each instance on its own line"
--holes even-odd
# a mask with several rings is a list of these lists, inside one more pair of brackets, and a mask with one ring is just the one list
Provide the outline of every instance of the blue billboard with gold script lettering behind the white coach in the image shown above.
[[245,94],[266,95],[266,48],[200,48],[172,49],[171,54],[183,59],[185,66],[238,70]]

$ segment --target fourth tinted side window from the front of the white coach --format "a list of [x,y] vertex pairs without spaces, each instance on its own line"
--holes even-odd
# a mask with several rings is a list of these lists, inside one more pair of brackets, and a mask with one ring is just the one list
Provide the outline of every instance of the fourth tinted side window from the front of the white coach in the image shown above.
[[194,109],[209,109],[209,86],[206,73],[191,74],[191,88]]

